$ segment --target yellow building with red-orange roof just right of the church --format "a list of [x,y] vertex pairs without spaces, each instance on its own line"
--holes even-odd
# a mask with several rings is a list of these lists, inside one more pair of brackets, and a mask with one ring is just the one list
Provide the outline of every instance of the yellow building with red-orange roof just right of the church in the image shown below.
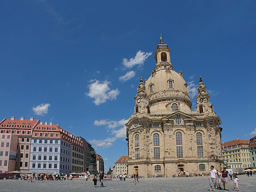
[[239,138],[222,143],[222,155],[225,166],[233,171],[243,173],[244,168],[251,167],[249,140]]

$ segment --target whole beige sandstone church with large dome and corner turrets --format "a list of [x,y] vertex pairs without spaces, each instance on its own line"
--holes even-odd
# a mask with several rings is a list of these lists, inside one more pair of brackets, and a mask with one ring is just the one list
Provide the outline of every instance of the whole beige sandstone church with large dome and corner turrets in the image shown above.
[[128,174],[165,177],[179,170],[208,172],[223,166],[221,120],[200,77],[196,109],[191,110],[189,87],[170,61],[170,49],[162,42],[155,50],[155,67],[149,79],[142,77],[134,113],[126,125]]

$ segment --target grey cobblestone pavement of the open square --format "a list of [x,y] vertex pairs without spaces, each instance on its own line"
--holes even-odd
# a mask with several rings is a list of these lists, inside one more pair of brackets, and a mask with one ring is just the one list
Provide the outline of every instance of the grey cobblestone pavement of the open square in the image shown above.
[[[240,191],[256,191],[256,176],[239,176]],[[73,179],[68,181],[38,181],[33,183],[23,180],[0,180],[0,191],[209,191],[208,177],[176,177],[145,178],[139,183],[129,179],[105,180],[104,187],[94,188],[92,180]],[[229,181],[229,189],[233,191],[233,181]],[[216,191],[224,191],[218,190]]]

